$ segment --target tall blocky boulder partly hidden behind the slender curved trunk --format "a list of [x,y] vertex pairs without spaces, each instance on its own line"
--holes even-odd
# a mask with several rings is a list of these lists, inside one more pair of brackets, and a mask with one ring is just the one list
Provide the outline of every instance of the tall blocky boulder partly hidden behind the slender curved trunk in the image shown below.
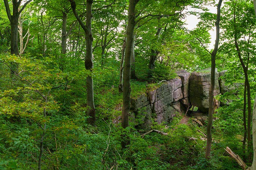
[[[219,73],[215,70],[214,95],[220,94]],[[189,78],[189,99],[193,106],[202,112],[209,109],[209,91],[211,85],[211,70],[193,72]]]

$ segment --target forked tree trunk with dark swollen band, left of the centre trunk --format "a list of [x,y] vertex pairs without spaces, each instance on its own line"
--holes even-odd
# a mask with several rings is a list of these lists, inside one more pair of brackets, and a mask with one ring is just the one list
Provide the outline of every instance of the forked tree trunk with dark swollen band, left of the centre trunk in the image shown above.
[[[78,20],[81,27],[84,29],[85,38],[86,38],[86,54],[85,54],[85,61],[84,65],[86,70],[93,69],[93,62],[92,62],[92,0],[86,1],[86,25],[82,22],[80,17],[76,12],[76,3],[73,0],[70,0],[70,4],[76,19]],[[87,122],[94,125],[95,123],[95,106],[94,106],[94,98],[93,98],[93,79],[91,76],[86,78],[86,87],[87,87],[87,115],[90,116],[87,119]]]

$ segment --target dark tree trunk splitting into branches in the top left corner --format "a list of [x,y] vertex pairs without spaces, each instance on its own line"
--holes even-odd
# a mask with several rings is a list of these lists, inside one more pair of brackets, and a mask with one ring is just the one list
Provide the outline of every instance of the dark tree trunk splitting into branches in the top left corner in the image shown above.
[[4,0],[5,10],[8,16],[8,19],[11,23],[11,54],[18,55],[19,49],[18,49],[18,23],[19,23],[19,16],[20,13],[25,9],[28,3],[30,3],[32,0],[28,0],[22,8],[20,8],[21,0],[12,1],[12,14],[10,11],[8,0]]

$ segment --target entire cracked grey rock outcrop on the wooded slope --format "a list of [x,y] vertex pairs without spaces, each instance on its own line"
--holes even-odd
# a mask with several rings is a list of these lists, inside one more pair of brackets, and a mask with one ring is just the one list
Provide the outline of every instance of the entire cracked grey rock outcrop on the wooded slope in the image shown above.
[[[189,103],[198,107],[203,113],[208,113],[211,70],[201,70],[189,73],[185,70],[176,71],[178,77],[164,82],[160,87],[131,99],[133,120],[139,128],[150,128],[152,122],[167,123],[176,114],[186,113]],[[220,76],[225,71],[220,72]],[[232,90],[225,86],[215,70],[214,95]],[[201,116],[202,117],[202,116]],[[204,117],[204,116],[203,116]]]

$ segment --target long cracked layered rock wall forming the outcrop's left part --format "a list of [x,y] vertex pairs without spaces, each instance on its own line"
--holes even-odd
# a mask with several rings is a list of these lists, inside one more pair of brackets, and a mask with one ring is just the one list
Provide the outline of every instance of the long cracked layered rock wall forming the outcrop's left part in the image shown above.
[[[183,98],[180,77],[164,82],[155,90],[131,99],[131,111],[135,117],[143,119],[142,127],[152,124],[152,120],[162,123],[169,122],[175,114],[183,109],[180,101]],[[155,116],[152,116],[152,113]]]

